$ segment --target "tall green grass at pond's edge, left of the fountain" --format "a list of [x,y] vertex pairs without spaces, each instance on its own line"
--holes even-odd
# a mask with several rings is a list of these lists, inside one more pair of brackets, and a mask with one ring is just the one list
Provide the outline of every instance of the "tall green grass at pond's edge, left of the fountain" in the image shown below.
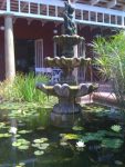
[[17,73],[13,82],[6,80],[0,84],[0,95],[6,100],[44,102],[48,97],[35,89],[35,82],[46,82],[48,80],[44,76],[34,77],[33,73],[27,76]]

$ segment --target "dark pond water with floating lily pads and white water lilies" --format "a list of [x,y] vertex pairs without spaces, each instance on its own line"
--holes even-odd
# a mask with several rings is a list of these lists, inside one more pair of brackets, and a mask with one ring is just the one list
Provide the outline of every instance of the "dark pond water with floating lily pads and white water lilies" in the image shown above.
[[25,121],[3,117],[0,167],[124,167],[122,114],[98,105],[84,106],[83,110],[72,129],[52,126],[33,129]]

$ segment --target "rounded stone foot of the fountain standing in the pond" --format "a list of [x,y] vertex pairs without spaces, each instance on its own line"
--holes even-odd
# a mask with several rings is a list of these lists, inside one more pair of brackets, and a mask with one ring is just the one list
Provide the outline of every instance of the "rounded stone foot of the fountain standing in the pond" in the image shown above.
[[51,124],[55,127],[72,127],[81,117],[81,106],[69,101],[59,102],[51,112]]

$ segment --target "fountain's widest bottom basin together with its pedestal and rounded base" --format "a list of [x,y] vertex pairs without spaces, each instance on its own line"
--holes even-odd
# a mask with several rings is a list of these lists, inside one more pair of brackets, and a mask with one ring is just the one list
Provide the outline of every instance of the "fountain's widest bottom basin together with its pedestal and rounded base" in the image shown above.
[[59,102],[54,105],[51,112],[51,122],[56,127],[71,127],[80,118],[82,107],[76,104],[75,98],[93,92],[97,85],[81,84],[79,86],[69,86],[67,84],[55,84],[46,86],[37,84],[37,88],[46,95],[56,96]]

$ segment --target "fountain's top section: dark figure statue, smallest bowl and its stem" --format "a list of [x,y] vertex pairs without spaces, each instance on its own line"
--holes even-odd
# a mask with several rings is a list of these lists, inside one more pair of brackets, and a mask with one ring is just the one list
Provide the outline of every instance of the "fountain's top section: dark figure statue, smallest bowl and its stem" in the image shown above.
[[76,35],[76,24],[74,21],[74,8],[66,2],[63,18],[64,18],[64,35],[54,36],[53,40],[61,47],[62,50],[61,56],[71,58],[74,57],[73,47],[84,41],[84,38]]

